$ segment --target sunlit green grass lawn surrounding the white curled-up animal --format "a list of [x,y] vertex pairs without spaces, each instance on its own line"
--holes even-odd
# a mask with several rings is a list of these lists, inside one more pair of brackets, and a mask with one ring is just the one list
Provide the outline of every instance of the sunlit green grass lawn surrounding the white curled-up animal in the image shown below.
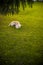
[[[8,24],[18,20],[20,29]],[[0,15],[0,65],[43,64],[43,3],[20,8],[19,14]]]

